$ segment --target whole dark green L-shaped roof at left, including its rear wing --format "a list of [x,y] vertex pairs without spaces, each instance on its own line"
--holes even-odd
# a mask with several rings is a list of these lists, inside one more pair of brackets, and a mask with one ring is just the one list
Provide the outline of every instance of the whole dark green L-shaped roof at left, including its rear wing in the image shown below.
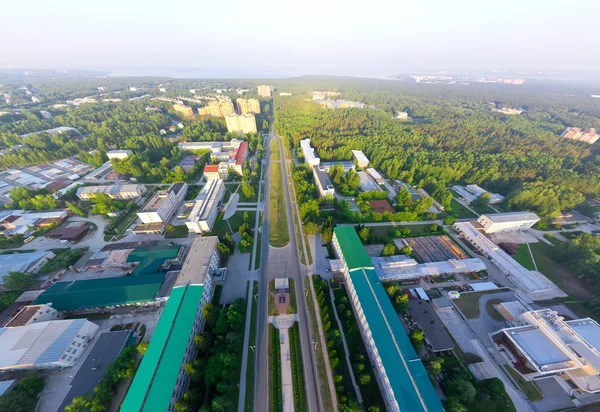
[[131,305],[156,299],[165,273],[156,273],[168,259],[174,259],[181,246],[138,248],[127,256],[139,262],[131,275],[118,278],[57,282],[42,293],[34,304],[52,302],[56,310]]

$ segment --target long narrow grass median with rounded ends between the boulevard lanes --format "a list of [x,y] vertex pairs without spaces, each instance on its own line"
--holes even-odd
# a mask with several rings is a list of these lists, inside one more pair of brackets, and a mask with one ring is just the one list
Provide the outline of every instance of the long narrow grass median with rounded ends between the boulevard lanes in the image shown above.
[[278,164],[274,164],[270,168],[270,173],[269,216],[271,226],[269,227],[269,243],[274,247],[283,247],[290,241],[283,193],[283,176]]

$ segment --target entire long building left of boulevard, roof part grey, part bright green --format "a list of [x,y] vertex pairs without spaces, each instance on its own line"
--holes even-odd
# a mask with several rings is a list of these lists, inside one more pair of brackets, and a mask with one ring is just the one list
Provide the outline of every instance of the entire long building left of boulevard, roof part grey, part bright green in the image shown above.
[[218,243],[215,236],[194,239],[122,411],[173,411],[187,390],[184,365],[196,358],[194,336],[204,327],[202,308],[212,299]]

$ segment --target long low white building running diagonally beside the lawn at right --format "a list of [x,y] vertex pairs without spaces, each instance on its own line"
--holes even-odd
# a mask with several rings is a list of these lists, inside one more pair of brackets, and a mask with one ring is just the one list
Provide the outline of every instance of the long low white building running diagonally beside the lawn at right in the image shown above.
[[527,293],[532,299],[566,296],[543,274],[529,271],[519,262],[500,249],[494,242],[479,232],[468,222],[457,222],[454,228],[484,256],[489,258],[513,283]]

